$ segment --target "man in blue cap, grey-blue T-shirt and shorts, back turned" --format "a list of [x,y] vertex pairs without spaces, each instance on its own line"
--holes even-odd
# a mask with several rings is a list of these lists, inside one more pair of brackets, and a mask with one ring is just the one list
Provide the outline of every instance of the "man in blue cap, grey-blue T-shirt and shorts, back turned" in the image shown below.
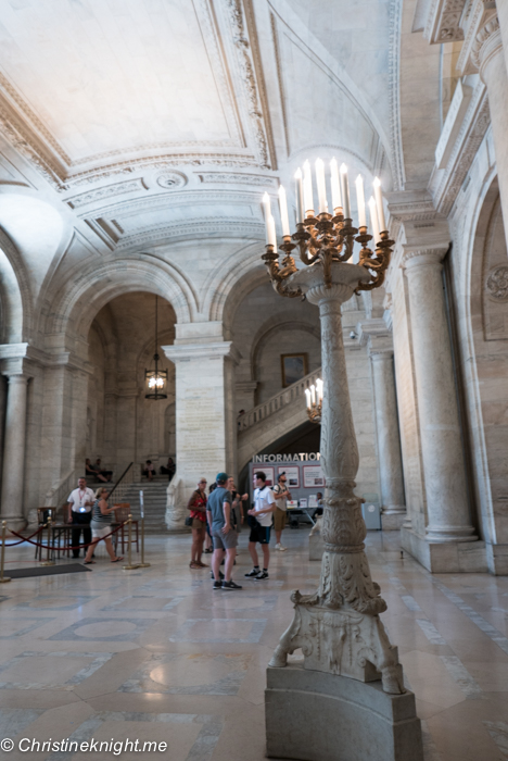
[[[217,488],[209,495],[206,506],[206,517],[208,520],[212,538],[214,540],[214,557],[212,558],[212,569],[214,572],[214,589],[241,589],[239,584],[231,581],[231,573],[237,554],[238,534],[231,521],[232,498],[231,492],[226,488],[228,482],[227,473],[218,473],[216,478]],[[226,552],[226,564],[224,566],[224,581],[220,581],[220,563]]]

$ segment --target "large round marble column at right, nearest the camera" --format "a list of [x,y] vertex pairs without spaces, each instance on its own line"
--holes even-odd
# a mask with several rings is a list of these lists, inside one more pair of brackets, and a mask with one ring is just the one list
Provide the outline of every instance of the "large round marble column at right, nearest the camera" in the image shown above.
[[426,538],[434,544],[470,542],[477,537],[469,516],[442,280],[446,248],[405,248],[428,511]]

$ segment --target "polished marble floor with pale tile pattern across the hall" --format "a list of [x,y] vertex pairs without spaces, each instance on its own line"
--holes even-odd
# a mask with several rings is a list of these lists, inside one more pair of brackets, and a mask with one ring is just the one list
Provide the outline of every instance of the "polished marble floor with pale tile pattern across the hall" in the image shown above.
[[[272,552],[261,583],[240,581],[251,569],[243,533],[239,592],[214,592],[207,570],[189,569],[188,535],[150,537],[150,569],[123,571],[101,550],[91,573],[1,585],[0,738],[155,740],[168,744],[155,756],[172,761],[261,761],[265,668],[292,617],[290,590],[308,591],[319,576],[307,534],[284,532],[289,549]],[[508,759],[508,578],[432,576],[401,558],[395,534],[367,541],[426,761]],[[7,571],[35,564],[31,549],[8,552]],[[0,757],[113,753],[15,747]]]

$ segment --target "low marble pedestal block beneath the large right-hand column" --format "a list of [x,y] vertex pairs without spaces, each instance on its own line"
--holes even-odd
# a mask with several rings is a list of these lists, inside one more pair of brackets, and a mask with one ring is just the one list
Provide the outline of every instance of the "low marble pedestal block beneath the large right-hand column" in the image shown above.
[[431,573],[486,573],[484,541],[432,542],[410,528],[401,528],[401,546]]

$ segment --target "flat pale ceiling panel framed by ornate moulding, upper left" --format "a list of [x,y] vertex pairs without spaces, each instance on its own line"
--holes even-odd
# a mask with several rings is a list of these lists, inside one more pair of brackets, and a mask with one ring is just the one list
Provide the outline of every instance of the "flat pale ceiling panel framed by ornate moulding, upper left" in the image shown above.
[[0,0],[8,102],[66,164],[241,148],[206,0]]

